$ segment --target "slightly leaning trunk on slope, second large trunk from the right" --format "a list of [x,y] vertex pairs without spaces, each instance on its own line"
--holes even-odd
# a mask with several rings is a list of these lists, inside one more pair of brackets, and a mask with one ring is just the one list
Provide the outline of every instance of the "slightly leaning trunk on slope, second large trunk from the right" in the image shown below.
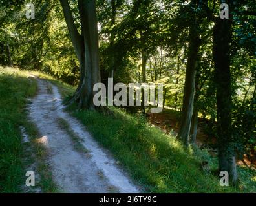
[[193,114],[193,103],[195,94],[195,73],[197,57],[200,48],[200,38],[195,25],[191,26],[189,34],[189,48],[187,53],[186,77],[184,86],[184,96],[182,105],[182,118],[178,138],[184,145],[189,145],[189,133],[191,128],[191,118]]

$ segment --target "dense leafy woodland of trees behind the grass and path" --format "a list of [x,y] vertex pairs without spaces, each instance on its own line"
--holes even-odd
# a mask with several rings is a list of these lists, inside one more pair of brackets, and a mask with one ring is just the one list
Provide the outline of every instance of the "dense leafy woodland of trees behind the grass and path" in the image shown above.
[[[48,73],[76,87],[69,102],[100,113],[108,109],[92,102],[97,82],[162,83],[184,147],[196,146],[200,118],[231,182],[237,160],[255,162],[254,1],[34,0],[34,19],[26,3],[0,1],[2,66]],[[144,106],[124,109],[149,115]]]

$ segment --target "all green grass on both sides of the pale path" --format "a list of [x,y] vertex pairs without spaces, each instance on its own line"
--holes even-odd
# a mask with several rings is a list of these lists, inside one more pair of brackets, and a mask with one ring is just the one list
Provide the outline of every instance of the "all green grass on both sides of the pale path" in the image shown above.
[[[19,126],[26,127],[32,140],[38,137],[24,111],[26,98],[36,93],[36,82],[28,80],[26,72],[3,70],[0,69],[0,191],[19,192],[18,185],[25,182]],[[74,92],[74,88],[52,77],[34,74],[58,86],[63,97]],[[238,167],[238,187],[220,187],[218,176],[200,167],[200,162],[207,160],[211,169],[216,169],[216,158],[200,149],[184,149],[175,136],[150,126],[144,117],[129,115],[122,109],[111,110],[113,115],[107,116],[96,111],[78,111],[74,105],[69,108],[146,192],[256,192],[256,173],[252,169]],[[40,187],[45,192],[58,192],[44,164],[45,150],[33,141],[32,145],[42,176]]]

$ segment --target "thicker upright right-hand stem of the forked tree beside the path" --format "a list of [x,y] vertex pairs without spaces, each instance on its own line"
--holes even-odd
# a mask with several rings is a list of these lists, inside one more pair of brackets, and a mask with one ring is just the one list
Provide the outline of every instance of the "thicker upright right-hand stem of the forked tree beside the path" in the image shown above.
[[80,108],[94,109],[93,86],[100,82],[100,55],[98,47],[98,26],[95,0],[78,0],[81,28],[85,46],[85,78],[78,93]]

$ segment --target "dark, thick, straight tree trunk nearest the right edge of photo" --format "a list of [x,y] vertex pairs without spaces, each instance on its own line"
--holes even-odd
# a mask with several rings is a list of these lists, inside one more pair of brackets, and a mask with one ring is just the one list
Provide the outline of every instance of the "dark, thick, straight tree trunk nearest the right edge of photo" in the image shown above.
[[[213,28],[213,61],[217,87],[217,133],[219,170],[228,171],[229,182],[237,182],[237,169],[231,127],[230,51],[231,19],[217,19]],[[231,180],[231,181],[230,181]]]

